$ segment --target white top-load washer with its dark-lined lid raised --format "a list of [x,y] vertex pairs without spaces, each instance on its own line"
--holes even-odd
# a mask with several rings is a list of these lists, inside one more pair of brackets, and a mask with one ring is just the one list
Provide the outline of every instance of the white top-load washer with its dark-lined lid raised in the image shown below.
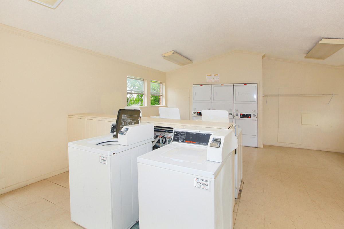
[[[127,115],[126,115],[127,116]],[[152,151],[152,123],[68,143],[71,219],[87,229],[129,229],[139,220],[137,157]]]

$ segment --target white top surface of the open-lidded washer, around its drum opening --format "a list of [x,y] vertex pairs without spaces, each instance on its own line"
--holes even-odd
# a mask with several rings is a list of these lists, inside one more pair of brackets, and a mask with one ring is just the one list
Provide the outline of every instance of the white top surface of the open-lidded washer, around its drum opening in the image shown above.
[[154,139],[147,139],[129,146],[123,146],[118,144],[118,138],[114,138],[112,134],[99,136],[95,138],[88,138],[79,141],[73,141],[68,143],[68,147],[85,150],[88,152],[99,153],[105,156],[111,156],[116,153],[123,152],[125,150],[134,148],[153,141]]

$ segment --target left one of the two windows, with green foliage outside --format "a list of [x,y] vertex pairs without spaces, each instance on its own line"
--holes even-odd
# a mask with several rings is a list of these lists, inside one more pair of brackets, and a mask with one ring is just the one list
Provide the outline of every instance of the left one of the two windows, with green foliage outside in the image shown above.
[[144,105],[144,79],[127,77],[127,106]]

